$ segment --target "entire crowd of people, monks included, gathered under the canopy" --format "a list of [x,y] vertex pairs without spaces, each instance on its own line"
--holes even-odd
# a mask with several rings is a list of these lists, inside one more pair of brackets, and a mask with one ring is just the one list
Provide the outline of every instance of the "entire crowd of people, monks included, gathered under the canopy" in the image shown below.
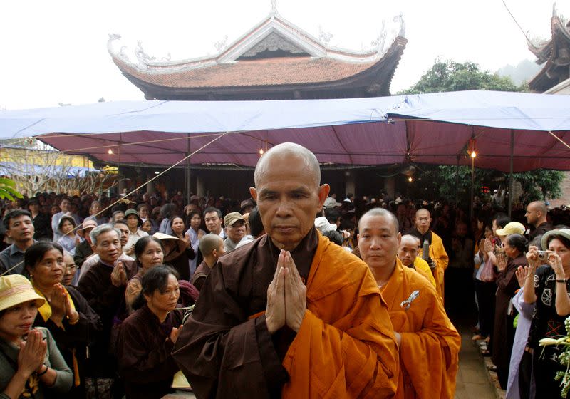
[[[566,209],[340,202],[316,157],[261,157],[242,201],[180,192],[2,204],[0,398],[453,398],[460,336],[507,398],[554,398]],[[515,338],[516,336],[516,338]],[[429,371],[429,372],[426,372]]]

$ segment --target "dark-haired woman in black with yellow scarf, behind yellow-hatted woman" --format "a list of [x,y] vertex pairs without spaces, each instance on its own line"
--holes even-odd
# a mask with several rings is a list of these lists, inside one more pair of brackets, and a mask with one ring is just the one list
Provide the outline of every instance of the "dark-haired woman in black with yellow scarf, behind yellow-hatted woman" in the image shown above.
[[[74,383],[68,398],[84,396],[87,351],[100,332],[100,318],[73,286],[63,286],[63,249],[55,242],[36,242],[24,254],[33,288],[46,299],[34,326],[47,328],[73,367]],[[61,396],[63,398],[63,396]]]

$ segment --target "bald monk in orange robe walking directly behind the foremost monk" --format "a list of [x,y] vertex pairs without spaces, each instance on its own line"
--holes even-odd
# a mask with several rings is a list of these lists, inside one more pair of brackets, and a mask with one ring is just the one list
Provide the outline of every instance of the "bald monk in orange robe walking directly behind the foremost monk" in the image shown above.
[[395,397],[453,398],[461,338],[430,282],[396,257],[398,219],[385,209],[371,209],[358,230],[362,259],[381,287],[400,348]]

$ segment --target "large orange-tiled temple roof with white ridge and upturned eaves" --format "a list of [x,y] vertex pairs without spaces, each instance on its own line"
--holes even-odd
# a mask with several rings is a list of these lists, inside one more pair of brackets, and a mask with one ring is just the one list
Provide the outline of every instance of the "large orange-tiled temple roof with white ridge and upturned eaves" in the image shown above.
[[[386,43],[385,29],[378,46],[368,51],[329,47],[283,19],[275,10],[215,56],[182,61],[157,61],[137,49],[137,63],[110,35],[108,50],[121,72],[147,99],[219,99],[220,95],[260,93],[287,98],[295,90],[352,90],[358,95],[388,95],[390,82],[405,48],[403,20],[400,32]],[[269,93],[269,94],[268,94]],[[364,93],[364,94],[363,94]],[[272,96],[272,97],[271,97]],[[351,96],[351,95],[348,95]],[[221,99],[221,98],[220,98]]]

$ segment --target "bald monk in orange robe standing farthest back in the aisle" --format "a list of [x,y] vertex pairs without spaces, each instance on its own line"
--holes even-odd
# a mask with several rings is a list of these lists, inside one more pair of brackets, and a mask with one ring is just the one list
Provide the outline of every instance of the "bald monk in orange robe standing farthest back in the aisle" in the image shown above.
[[[412,229],[410,234],[418,237],[421,242],[422,248],[420,249],[419,256],[423,257],[423,243],[427,239],[430,243],[430,268],[432,270],[433,277],[435,278],[435,289],[440,297],[445,298],[445,287],[443,285],[443,276],[445,274],[445,269],[447,269],[447,264],[450,262],[450,257],[447,256],[445,248],[443,247],[443,242],[440,236],[432,232],[430,229],[430,224],[432,223],[432,217],[430,211],[427,209],[418,209],[415,212],[414,218],[415,227]],[[428,262],[430,263],[430,262]]]

